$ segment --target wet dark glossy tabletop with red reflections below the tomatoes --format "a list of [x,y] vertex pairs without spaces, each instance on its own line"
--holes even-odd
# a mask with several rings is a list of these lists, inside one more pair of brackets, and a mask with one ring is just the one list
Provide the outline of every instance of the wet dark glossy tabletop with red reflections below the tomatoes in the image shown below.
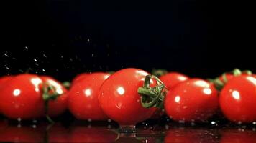
[[197,124],[170,122],[142,122],[135,133],[117,132],[115,122],[78,121],[70,124],[48,124],[0,120],[0,142],[209,142],[239,143],[256,142],[255,125],[215,125],[204,127]]

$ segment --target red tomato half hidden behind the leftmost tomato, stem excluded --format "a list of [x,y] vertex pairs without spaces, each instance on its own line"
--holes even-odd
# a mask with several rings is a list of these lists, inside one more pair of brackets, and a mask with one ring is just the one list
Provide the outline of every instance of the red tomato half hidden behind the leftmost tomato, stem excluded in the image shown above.
[[56,79],[53,79],[52,77],[40,76],[40,79],[42,79],[43,83],[52,85],[52,87],[56,89],[55,92],[60,94],[60,96],[57,99],[50,100],[48,110],[49,116],[56,117],[65,112],[65,110],[68,108],[67,89],[65,89],[65,87],[63,87],[63,85],[60,82],[58,82]]

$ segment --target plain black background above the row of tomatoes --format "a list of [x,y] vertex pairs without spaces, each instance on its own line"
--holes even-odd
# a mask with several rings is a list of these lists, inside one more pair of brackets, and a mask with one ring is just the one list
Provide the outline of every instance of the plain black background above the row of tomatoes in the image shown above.
[[27,69],[70,80],[137,67],[216,77],[255,67],[247,1],[1,2],[0,75]]

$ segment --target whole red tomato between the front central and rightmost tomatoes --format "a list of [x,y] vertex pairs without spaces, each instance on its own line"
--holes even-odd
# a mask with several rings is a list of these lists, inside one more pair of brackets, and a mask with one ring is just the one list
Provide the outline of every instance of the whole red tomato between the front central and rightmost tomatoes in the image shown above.
[[205,121],[218,109],[219,98],[213,84],[203,79],[188,79],[165,97],[165,112],[175,121]]

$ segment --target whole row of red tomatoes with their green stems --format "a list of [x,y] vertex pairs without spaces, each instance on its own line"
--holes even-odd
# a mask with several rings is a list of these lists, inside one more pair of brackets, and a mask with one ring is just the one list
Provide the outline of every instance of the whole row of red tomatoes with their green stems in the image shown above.
[[50,119],[68,109],[77,119],[113,119],[129,126],[157,114],[206,122],[221,109],[232,122],[256,121],[256,78],[250,71],[235,69],[211,80],[163,73],[159,78],[132,68],[84,73],[69,89],[52,77],[5,76],[0,78],[0,113],[10,119]]

